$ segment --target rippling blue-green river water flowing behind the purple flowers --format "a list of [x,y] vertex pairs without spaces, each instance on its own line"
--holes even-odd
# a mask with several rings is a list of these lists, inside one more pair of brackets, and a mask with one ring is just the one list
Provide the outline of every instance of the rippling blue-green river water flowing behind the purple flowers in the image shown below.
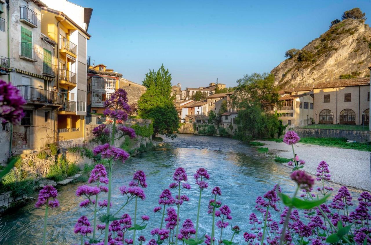
[[[286,194],[291,195],[295,189],[295,184],[289,178],[288,167],[258,154],[255,148],[241,141],[179,134],[175,140],[165,140],[153,151],[130,158],[125,164],[114,165],[112,182],[112,209],[114,211],[119,209],[125,198],[118,188],[127,185],[132,174],[137,170],[143,170],[147,174],[148,188],[145,189],[147,197],[145,201],[138,201],[138,215],[139,217],[144,214],[149,215],[150,222],[146,229],[137,232],[137,238],[139,235],[145,235],[148,241],[151,238],[151,229],[160,226],[161,215],[154,214],[152,210],[157,206],[158,196],[162,190],[168,188],[172,182],[172,174],[177,167],[183,167],[187,171],[188,182],[192,187],[190,190],[182,191],[182,194],[188,195],[190,201],[184,202],[181,206],[181,223],[186,218],[191,218],[196,223],[198,189],[193,178],[194,172],[204,167],[210,174],[209,188],[203,192],[199,234],[209,234],[211,230],[211,216],[207,214],[207,205],[214,186],[221,188],[221,201],[229,205],[232,210],[233,219],[230,224],[239,225],[243,232],[249,231],[248,216],[255,209],[255,199],[258,195],[263,195],[277,183],[280,183],[282,191]],[[80,244],[79,236],[73,233],[73,226],[81,215],[92,217],[89,209],[79,208],[82,198],[75,195],[76,188],[83,184],[85,183],[78,182],[58,188],[60,207],[49,209],[47,227],[47,241],[49,242],[47,244]],[[333,183],[328,183],[328,185],[335,191],[340,187]],[[354,197],[359,196],[360,191],[349,190]],[[35,202],[29,203],[2,217],[1,221],[3,224],[6,223],[6,228],[11,228],[11,231],[0,241],[0,244],[41,244],[45,209],[36,209],[34,205]],[[124,212],[133,217],[134,203],[127,205]],[[121,215],[124,212],[121,212]],[[243,232],[234,236],[235,242],[243,241]],[[232,230],[227,228],[223,234],[225,239],[230,239]],[[125,235],[125,238],[129,236]]]

